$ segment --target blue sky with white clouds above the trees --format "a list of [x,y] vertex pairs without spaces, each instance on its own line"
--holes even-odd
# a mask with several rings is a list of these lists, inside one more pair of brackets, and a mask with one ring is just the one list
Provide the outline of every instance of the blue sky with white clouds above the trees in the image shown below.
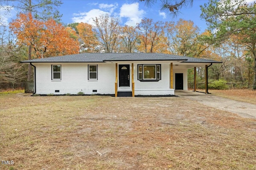
[[[247,0],[252,3],[255,0]],[[200,5],[204,5],[208,0],[194,0],[192,6],[184,7],[178,16],[174,17],[166,11],[160,10],[160,4],[150,7],[145,6],[145,2],[140,0],[62,0],[63,4],[58,8],[62,14],[61,22],[64,24],[74,22],[84,22],[92,24],[92,18],[102,14],[109,14],[119,18],[121,25],[135,26],[144,18],[154,21],[178,21],[180,18],[191,20],[198,26],[201,32],[207,29],[206,22],[200,18]],[[156,2],[160,3],[160,0]],[[1,22],[8,25],[12,19],[16,18],[16,11],[6,13],[0,9]]]

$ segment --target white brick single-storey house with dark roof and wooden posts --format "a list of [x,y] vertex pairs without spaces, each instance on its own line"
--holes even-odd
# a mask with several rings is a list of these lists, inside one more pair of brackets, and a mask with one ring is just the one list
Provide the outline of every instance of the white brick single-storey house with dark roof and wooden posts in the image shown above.
[[81,53],[32,59],[34,94],[174,95],[187,69],[221,63],[161,53]]

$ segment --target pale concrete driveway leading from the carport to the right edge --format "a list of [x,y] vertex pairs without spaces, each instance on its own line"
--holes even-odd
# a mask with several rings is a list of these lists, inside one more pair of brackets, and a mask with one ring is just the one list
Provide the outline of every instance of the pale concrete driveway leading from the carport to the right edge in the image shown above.
[[212,94],[193,92],[190,90],[175,90],[175,95],[197,101],[206,106],[236,113],[241,117],[256,119],[256,105],[239,102]]

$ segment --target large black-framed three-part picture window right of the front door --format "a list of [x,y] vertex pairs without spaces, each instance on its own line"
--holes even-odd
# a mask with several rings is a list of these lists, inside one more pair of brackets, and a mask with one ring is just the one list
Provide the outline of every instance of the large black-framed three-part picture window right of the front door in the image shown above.
[[139,64],[138,80],[140,81],[161,80],[161,65],[160,64]]

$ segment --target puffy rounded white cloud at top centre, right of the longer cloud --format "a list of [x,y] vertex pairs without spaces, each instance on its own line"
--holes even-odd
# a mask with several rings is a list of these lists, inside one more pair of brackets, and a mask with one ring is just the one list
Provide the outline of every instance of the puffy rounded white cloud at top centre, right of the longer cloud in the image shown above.
[[127,18],[126,25],[135,26],[136,23],[140,23],[144,10],[139,10],[139,4],[123,4],[120,8],[120,18]]

